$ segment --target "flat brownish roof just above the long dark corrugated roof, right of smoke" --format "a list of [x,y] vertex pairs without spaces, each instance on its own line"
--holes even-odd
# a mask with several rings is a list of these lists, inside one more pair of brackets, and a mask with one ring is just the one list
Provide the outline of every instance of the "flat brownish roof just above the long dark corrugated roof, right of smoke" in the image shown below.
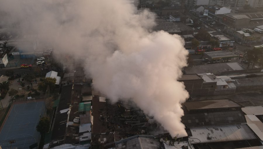
[[183,104],[188,110],[241,107],[229,99],[186,101]]

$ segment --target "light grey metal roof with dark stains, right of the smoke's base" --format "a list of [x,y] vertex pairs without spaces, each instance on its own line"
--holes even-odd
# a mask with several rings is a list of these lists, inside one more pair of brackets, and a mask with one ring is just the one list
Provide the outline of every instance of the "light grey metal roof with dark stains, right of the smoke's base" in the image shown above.
[[192,144],[256,139],[247,125],[191,128],[190,131]]

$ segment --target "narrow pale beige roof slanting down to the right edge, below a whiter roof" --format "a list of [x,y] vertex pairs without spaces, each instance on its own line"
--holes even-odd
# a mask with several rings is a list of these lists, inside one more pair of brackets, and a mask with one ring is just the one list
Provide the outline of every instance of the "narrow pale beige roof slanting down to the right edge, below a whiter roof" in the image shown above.
[[256,117],[256,115],[245,115],[247,125],[254,131],[254,133],[263,141],[263,123]]

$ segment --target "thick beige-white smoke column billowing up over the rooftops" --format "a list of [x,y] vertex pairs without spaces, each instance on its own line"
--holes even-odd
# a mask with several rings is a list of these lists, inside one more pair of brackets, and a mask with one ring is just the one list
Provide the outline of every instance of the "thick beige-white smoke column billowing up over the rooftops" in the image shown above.
[[150,32],[152,13],[125,0],[8,0],[0,10],[21,35],[38,35],[39,48],[83,59],[94,88],[112,102],[133,100],[172,136],[187,135],[180,121],[188,93],[177,79],[188,52],[178,35]]

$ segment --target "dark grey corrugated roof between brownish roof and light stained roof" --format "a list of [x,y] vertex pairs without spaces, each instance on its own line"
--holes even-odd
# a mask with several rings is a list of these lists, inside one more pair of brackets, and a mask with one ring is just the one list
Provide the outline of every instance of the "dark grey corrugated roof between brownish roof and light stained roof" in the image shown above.
[[188,128],[246,123],[242,111],[185,114],[181,119]]

